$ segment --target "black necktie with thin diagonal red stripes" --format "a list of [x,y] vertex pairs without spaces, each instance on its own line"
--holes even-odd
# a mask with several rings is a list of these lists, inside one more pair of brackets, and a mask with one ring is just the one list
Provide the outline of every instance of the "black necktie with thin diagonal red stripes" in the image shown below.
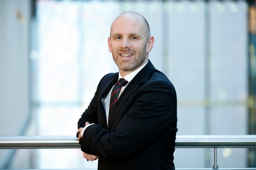
[[128,82],[121,78],[118,80],[118,82],[115,84],[114,88],[112,89],[111,92],[111,97],[110,97],[110,103],[109,103],[109,119],[111,117],[111,114],[113,114],[113,109],[115,108],[115,103],[118,100],[118,96],[120,94],[122,86],[125,86]]

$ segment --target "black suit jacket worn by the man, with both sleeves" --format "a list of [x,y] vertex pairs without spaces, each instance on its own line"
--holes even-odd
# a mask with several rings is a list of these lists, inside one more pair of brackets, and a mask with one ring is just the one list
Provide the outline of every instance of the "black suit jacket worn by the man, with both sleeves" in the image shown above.
[[80,139],[81,150],[98,155],[98,169],[175,169],[173,153],[177,132],[177,97],[172,83],[148,61],[126,86],[107,126],[101,98],[118,81],[105,75],[88,109],[78,121],[95,123]]

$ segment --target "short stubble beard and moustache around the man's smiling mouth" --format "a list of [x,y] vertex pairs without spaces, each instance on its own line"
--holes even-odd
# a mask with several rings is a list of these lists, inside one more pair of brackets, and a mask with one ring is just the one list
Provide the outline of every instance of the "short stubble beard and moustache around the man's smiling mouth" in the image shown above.
[[[133,59],[132,60],[121,60],[119,58],[120,53],[132,53],[133,54]],[[142,51],[134,51],[132,49],[127,49],[127,50],[118,50],[115,53],[112,53],[113,59],[118,66],[119,69],[123,71],[130,71],[133,70],[137,67],[139,67],[147,57],[147,44],[143,47]],[[121,61],[120,61],[121,60]]]

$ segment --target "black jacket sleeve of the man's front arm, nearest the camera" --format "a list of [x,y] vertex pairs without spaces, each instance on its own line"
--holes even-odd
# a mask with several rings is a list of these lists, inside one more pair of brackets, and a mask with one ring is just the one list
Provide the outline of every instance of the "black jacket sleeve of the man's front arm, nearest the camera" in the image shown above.
[[109,161],[126,162],[150,146],[176,116],[174,87],[165,81],[148,83],[140,88],[135,103],[116,130],[110,132],[99,125],[89,126],[80,139],[81,150]]

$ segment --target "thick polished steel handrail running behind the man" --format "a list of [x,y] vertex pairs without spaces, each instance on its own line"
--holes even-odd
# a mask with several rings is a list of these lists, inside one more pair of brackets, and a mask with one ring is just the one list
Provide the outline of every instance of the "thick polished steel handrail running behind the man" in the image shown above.
[[[256,148],[256,135],[177,135],[175,148]],[[0,149],[80,148],[75,136],[0,136]]]

